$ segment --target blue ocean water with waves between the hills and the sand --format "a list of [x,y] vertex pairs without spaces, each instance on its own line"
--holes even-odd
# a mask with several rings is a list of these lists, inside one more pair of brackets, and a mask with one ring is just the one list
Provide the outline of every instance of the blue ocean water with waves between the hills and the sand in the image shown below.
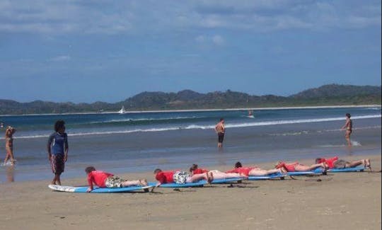
[[[352,148],[340,130],[345,113],[353,120]],[[214,126],[221,117],[226,136],[218,149]],[[65,178],[85,176],[86,166],[112,173],[187,170],[200,166],[269,161],[296,161],[319,156],[381,153],[381,107],[264,108],[141,113],[65,115],[0,115],[16,128],[16,166],[0,167],[0,183],[8,180],[50,180],[47,138],[54,122],[64,120],[69,136]],[[0,138],[4,144],[4,136]],[[5,144],[0,156],[5,157]]]

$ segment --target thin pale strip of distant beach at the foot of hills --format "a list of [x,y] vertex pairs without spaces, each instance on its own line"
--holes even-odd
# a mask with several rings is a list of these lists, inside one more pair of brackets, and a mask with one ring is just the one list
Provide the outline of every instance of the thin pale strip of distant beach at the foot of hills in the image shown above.
[[[214,112],[214,111],[240,111],[240,110],[293,110],[293,109],[317,109],[317,108],[367,108],[367,107],[378,107],[381,108],[382,105],[319,105],[319,106],[287,106],[287,107],[260,107],[260,108],[221,108],[221,109],[195,109],[195,110],[132,110],[127,111],[122,114],[129,113],[179,113],[179,112]],[[9,116],[39,116],[39,115],[93,115],[93,114],[120,114],[118,111],[105,111],[102,113],[98,112],[85,112],[85,113],[31,113],[31,114],[5,114],[0,115],[4,117]]]

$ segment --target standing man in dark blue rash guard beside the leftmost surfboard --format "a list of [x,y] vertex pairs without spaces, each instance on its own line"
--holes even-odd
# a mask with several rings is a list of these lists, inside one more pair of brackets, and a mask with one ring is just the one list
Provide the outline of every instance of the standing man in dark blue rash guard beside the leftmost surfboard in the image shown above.
[[68,136],[65,132],[64,120],[57,120],[54,123],[54,133],[47,142],[47,152],[54,178],[52,185],[61,185],[61,173],[64,172],[65,162],[68,160]]

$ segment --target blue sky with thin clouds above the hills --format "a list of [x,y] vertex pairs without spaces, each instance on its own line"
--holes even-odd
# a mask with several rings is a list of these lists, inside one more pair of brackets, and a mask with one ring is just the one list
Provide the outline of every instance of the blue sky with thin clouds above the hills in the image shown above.
[[0,98],[381,86],[381,1],[0,0]]

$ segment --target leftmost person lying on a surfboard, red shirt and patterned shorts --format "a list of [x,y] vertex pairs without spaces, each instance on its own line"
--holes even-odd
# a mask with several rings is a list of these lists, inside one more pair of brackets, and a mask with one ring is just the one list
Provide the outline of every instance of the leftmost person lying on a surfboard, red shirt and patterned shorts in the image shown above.
[[147,180],[122,180],[121,178],[114,176],[112,173],[106,173],[104,171],[97,171],[93,166],[85,168],[85,172],[88,175],[89,188],[86,192],[93,190],[93,184],[100,188],[122,188],[129,186],[147,186]]

